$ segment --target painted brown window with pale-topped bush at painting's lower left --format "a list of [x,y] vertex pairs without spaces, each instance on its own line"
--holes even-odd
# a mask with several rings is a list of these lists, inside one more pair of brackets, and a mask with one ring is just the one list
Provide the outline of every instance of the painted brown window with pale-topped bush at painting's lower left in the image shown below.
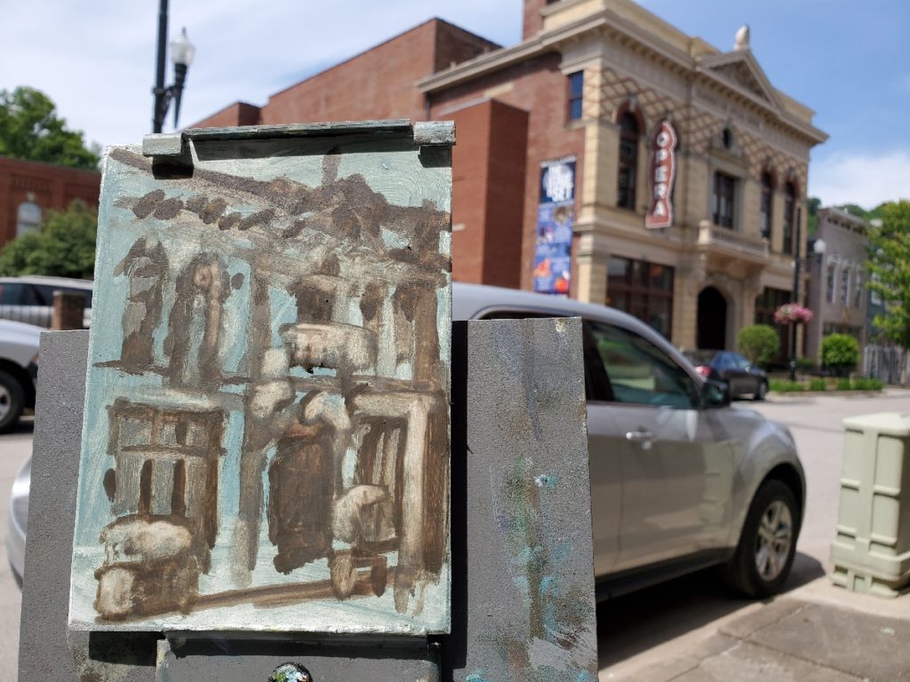
[[[106,476],[106,485],[113,486],[109,495],[117,518],[100,538],[106,560],[95,572],[99,619],[186,613],[192,607],[199,574],[209,570],[215,546],[224,420],[220,411],[143,405],[126,398],[108,408],[107,452],[115,457],[115,475]],[[125,428],[127,423],[133,426]],[[135,426],[142,424],[147,428],[137,431]],[[166,439],[171,428],[173,443]],[[143,437],[136,439],[137,433]],[[201,466],[191,469],[190,460]],[[137,476],[136,461],[142,462]],[[167,490],[160,476],[170,462],[173,479]],[[154,513],[158,494],[167,495],[167,513]],[[193,513],[188,499],[197,500]]]

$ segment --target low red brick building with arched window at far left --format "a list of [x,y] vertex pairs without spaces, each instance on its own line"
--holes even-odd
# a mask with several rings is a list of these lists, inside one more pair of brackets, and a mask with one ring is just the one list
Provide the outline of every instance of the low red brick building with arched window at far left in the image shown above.
[[0,248],[36,230],[48,208],[64,209],[74,199],[98,206],[100,190],[97,171],[0,156]]

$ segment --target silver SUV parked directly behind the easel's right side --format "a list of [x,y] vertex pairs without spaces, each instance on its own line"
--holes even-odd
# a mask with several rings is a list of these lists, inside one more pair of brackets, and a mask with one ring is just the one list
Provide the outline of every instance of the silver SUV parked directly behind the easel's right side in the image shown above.
[[730,406],[662,336],[603,306],[455,284],[456,320],[580,316],[599,597],[711,565],[764,597],[784,584],[805,504],[793,436]]

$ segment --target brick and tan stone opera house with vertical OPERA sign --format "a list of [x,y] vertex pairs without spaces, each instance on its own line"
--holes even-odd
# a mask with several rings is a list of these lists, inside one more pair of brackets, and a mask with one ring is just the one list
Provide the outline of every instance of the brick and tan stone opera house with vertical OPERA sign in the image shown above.
[[456,280],[567,292],[679,346],[733,347],[790,300],[826,139],[813,115],[771,85],[746,28],[724,52],[632,0],[524,0],[519,45],[433,19],[198,125],[454,120]]

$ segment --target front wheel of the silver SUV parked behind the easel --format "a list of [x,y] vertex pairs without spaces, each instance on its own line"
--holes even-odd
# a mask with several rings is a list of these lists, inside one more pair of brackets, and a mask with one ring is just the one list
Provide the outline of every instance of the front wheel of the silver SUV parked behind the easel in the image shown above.
[[745,517],[736,554],[725,567],[727,581],[750,597],[779,591],[793,565],[798,518],[790,488],[780,481],[765,481]]

